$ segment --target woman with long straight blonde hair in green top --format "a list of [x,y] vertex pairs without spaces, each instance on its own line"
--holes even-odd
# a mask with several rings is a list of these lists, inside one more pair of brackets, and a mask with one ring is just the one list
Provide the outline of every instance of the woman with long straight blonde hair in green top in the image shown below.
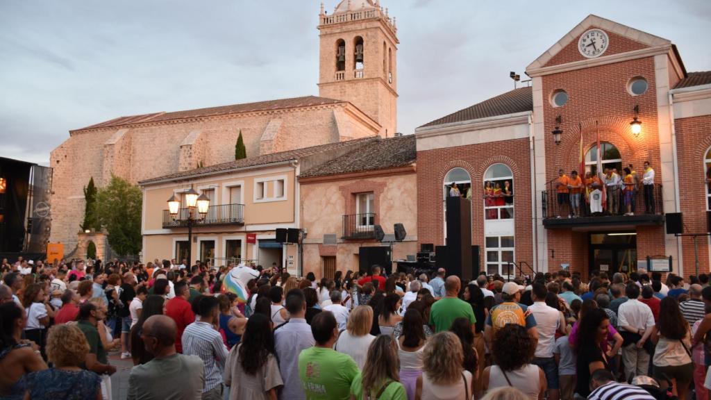
[[[368,306],[362,306],[368,307]],[[358,307],[360,308],[360,307]],[[351,400],[405,400],[405,386],[399,382],[400,360],[395,339],[379,335],[368,347],[368,357],[351,384]]]

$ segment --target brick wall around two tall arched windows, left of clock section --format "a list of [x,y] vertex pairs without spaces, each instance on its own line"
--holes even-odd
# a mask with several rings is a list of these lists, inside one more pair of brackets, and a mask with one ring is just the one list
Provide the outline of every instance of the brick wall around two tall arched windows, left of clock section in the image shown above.
[[[472,181],[471,244],[480,246],[484,268],[483,175],[492,164],[513,172],[515,260],[533,265],[530,152],[528,139],[517,139],[417,152],[417,242],[444,245],[444,177],[455,167]],[[479,190],[477,190],[479,189]]]

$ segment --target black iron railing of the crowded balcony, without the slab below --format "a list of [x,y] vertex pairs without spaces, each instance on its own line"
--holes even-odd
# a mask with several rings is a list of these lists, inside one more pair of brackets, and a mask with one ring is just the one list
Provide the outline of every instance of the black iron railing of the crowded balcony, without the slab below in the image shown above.
[[[594,206],[595,196],[599,196],[601,203],[599,208]],[[579,206],[576,207],[574,203],[575,199],[572,194],[560,196],[552,184],[549,184],[547,190],[542,191],[543,218],[664,214],[661,184],[641,185],[634,191],[624,190],[622,186],[607,186],[604,192],[602,190],[594,192],[591,188],[587,196],[583,188],[579,193]]]

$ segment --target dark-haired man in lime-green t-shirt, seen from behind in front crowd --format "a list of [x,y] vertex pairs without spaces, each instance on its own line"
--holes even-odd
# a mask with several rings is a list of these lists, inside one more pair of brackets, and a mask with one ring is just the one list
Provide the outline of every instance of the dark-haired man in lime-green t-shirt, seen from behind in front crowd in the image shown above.
[[307,400],[348,400],[358,364],[348,354],[333,350],[338,339],[338,323],[330,311],[319,312],[311,320],[316,344],[299,354],[299,379]]

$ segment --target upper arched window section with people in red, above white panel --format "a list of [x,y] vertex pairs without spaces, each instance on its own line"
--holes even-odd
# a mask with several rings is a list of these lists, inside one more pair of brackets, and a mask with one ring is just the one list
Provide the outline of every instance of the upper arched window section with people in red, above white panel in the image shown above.
[[513,174],[506,164],[488,167],[483,198],[485,219],[513,219]]

